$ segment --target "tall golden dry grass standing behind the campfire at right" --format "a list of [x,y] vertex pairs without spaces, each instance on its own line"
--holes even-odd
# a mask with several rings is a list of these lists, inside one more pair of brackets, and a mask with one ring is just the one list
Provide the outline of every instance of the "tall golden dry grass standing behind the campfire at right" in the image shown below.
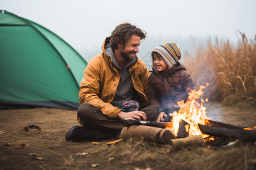
[[184,65],[197,86],[209,86],[204,96],[223,103],[256,101],[256,39],[248,40],[241,33],[236,47],[229,41],[216,44],[208,42],[208,48],[196,49],[195,56],[186,56]]

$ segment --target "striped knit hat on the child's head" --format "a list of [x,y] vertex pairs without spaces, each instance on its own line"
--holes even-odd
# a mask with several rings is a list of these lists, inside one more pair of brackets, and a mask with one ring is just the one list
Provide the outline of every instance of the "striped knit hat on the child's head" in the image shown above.
[[[151,52],[152,61],[154,61],[154,53],[158,53],[163,57],[164,61],[166,61],[168,65],[168,70],[179,63],[179,59],[181,58],[180,47],[176,42],[166,42],[165,44],[156,46]],[[157,70],[154,63],[151,67]]]

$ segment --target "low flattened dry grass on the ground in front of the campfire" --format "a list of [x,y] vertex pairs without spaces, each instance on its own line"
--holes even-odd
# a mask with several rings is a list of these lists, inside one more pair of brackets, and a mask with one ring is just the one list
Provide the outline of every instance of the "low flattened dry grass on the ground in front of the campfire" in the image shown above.
[[[175,148],[142,141],[129,141],[101,150],[118,162],[117,169],[250,169],[255,150],[250,145],[237,148],[209,149],[207,147]],[[228,158],[228,159],[227,159]],[[99,157],[104,160],[104,156]],[[234,160],[237,160],[234,162]]]

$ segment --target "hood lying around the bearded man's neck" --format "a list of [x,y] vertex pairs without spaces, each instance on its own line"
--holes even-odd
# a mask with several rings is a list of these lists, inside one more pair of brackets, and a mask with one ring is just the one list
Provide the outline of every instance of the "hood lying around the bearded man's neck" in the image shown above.
[[[115,65],[115,67],[117,67],[118,69],[120,69],[120,67],[118,66],[118,63],[117,61],[115,60],[115,56],[114,56],[114,52],[113,52],[113,49],[111,48],[110,46],[110,37],[106,37],[105,41],[103,42],[102,44],[102,52],[106,54],[106,56],[108,56],[111,61],[113,62],[113,64]],[[137,55],[135,54],[134,55],[134,59],[133,61],[129,61],[127,62],[126,66],[125,67],[129,67],[130,65],[133,65],[133,63],[137,62]]]

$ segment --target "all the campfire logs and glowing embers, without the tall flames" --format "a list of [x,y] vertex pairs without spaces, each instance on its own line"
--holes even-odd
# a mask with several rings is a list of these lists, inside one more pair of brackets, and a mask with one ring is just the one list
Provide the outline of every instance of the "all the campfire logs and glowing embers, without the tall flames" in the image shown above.
[[[125,120],[125,128],[121,131],[122,141],[129,138],[141,138],[144,141],[155,142],[160,144],[170,144],[180,146],[201,146],[205,142],[212,146],[226,145],[236,139],[240,141],[256,141],[255,130],[245,130],[241,127],[224,124],[222,122],[207,120],[207,125],[199,124],[202,135],[189,135],[189,124],[182,120],[179,124],[179,131],[174,135],[174,130],[168,128],[172,122],[154,122]],[[166,128],[167,127],[167,128]],[[207,134],[207,135],[205,135]],[[217,139],[217,140],[216,140]]]

